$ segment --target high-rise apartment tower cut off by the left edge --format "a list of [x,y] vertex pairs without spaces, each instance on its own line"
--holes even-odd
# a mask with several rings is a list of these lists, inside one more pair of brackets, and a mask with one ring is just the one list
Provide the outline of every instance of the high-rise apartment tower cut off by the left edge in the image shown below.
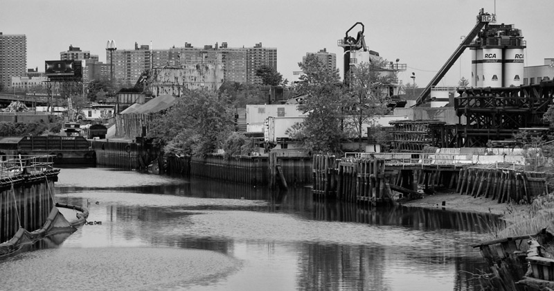
[[0,33],[0,82],[10,89],[12,77],[24,77],[27,72],[27,37]]

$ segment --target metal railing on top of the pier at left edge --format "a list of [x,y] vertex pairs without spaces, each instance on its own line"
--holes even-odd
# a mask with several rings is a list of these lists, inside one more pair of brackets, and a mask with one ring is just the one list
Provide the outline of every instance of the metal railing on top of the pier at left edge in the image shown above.
[[54,168],[53,155],[24,156],[19,155],[0,161],[0,177],[14,177],[22,173],[37,174]]

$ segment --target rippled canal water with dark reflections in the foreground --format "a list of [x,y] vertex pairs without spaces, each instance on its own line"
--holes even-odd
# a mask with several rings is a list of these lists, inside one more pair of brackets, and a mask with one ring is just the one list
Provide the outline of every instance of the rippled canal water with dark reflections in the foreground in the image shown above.
[[495,221],[109,168],[59,178],[56,200],[92,224],[0,258],[0,290],[480,290],[470,245]]

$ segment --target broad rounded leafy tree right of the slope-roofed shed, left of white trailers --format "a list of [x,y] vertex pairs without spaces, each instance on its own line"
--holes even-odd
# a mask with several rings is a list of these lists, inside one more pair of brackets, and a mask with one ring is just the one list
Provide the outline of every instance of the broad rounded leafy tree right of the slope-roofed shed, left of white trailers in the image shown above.
[[233,127],[226,94],[193,90],[185,91],[177,104],[152,123],[148,136],[163,139],[169,154],[206,155],[221,147]]

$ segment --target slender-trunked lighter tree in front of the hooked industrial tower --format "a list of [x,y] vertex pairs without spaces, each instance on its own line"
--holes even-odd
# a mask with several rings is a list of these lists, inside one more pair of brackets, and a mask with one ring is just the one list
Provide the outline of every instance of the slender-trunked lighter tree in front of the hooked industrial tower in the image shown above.
[[371,123],[375,115],[388,112],[388,88],[394,76],[391,71],[383,70],[386,64],[388,62],[383,59],[372,60],[363,62],[351,70],[350,86],[346,94],[348,103],[345,121],[348,124],[347,129],[357,137],[359,151],[364,126]]

